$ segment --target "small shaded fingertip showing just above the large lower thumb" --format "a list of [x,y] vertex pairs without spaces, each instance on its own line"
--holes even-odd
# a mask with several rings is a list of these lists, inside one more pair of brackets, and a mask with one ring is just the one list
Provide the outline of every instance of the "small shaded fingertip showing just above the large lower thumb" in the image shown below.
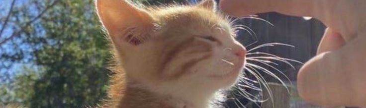
[[323,39],[320,41],[317,54],[337,50],[345,44],[345,40],[339,33],[327,28],[323,35]]

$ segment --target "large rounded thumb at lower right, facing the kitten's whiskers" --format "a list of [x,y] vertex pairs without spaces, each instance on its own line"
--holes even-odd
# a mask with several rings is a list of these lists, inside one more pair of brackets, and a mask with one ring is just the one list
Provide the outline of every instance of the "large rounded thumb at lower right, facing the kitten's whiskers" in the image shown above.
[[365,106],[365,40],[366,33],[306,62],[297,76],[299,95],[316,105]]

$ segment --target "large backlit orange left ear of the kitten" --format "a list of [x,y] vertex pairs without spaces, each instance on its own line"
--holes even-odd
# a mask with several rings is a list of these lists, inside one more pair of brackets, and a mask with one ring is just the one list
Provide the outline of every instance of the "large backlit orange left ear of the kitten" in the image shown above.
[[95,7],[113,41],[125,40],[139,45],[143,39],[141,33],[148,32],[153,27],[151,15],[127,0],[95,0]]

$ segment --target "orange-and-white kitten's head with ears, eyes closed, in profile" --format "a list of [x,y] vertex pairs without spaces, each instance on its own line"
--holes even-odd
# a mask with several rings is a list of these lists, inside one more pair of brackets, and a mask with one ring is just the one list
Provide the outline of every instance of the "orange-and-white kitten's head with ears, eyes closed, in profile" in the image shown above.
[[97,0],[96,6],[128,79],[167,93],[214,92],[232,86],[243,70],[246,50],[213,0],[148,8]]

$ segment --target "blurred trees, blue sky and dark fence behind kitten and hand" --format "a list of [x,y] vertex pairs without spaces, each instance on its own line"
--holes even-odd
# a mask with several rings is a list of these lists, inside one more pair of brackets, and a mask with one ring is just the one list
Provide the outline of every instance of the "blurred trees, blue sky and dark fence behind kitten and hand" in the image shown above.
[[[146,5],[173,2],[140,1]],[[257,15],[274,26],[250,18],[236,21],[253,30],[238,33],[237,39],[247,49],[266,43],[289,44],[295,48],[274,46],[257,51],[301,62],[316,54],[325,29],[316,19],[305,20],[275,12]],[[111,74],[107,69],[110,54],[103,36],[93,0],[0,0],[0,105],[81,108],[100,103],[106,97],[108,74]],[[317,108],[296,95],[296,75],[302,64],[291,64],[295,69],[280,62],[275,66],[289,80],[271,69],[291,89],[288,107]],[[271,76],[264,76],[268,82],[279,83]],[[226,107],[256,108],[245,98],[239,96],[238,99],[228,100]],[[242,105],[237,104],[239,101]]]

